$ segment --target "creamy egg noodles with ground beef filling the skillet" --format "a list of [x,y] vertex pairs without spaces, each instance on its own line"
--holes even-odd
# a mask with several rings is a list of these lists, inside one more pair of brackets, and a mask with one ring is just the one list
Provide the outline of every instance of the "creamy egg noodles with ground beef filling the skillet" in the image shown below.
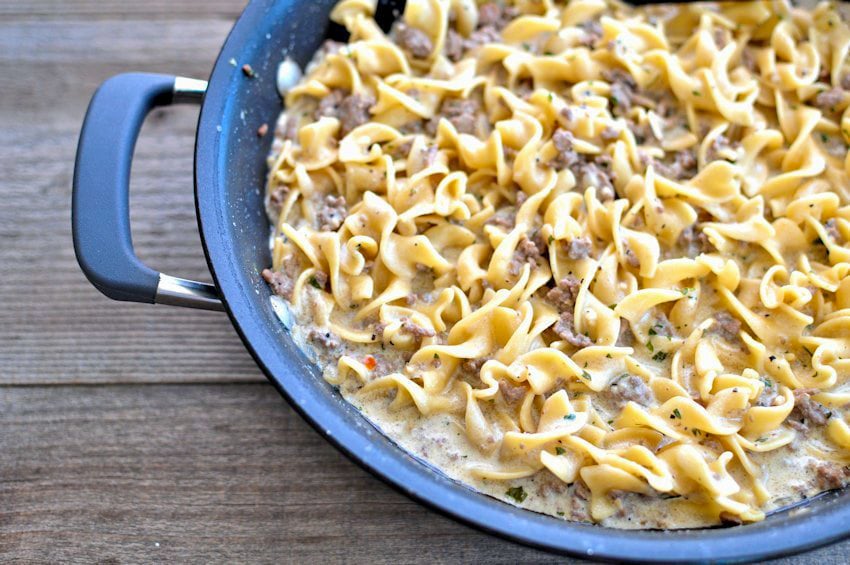
[[388,436],[569,520],[850,479],[850,48],[784,1],[343,0],[285,96],[296,342]]

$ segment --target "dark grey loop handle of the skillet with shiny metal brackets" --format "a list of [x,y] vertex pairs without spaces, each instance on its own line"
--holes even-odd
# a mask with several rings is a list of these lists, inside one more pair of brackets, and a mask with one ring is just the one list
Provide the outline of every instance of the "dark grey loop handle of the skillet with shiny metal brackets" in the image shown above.
[[130,163],[153,108],[200,102],[206,82],[127,73],[104,82],[89,103],[77,145],[71,223],[77,262],[113,300],[223,310],[213,285],[171,277],[141,262],[130,236]]

